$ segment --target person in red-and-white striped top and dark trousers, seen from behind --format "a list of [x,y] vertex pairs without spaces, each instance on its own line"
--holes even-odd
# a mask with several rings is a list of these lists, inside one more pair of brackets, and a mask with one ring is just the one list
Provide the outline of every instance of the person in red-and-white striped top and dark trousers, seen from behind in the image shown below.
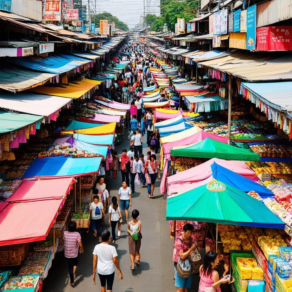
[[68,224],[68,231],[64,231],[64,251],[65,258],[68,261],[70,285],[75,287],[74,279],[75,273],[78,265],[78,248],[80,248],[80,253],[84,253],[84,249],[81,242],[81,235],[76,232],[76,223],[70,222]]

